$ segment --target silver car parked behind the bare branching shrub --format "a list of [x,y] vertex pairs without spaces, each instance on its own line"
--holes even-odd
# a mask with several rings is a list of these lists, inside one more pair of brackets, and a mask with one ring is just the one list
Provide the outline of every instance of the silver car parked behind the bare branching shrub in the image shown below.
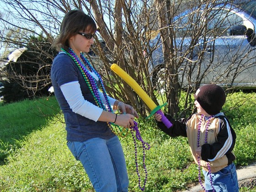
[[[176,16],[169,27],[176,31],[174,50],[183,59],[177,69],[182,86],[200,80],[201,85],[256,89],[255,26],[256,0],[203,5]],[[192,30],[200,31],[200,27],[205,28],[197,39]],[[167,70],[160,42],[159,33],[152,39],[152,46],[159,46],[149,63],[153,85],[159,86]],[[187,50],[189,54],[182,58]]]

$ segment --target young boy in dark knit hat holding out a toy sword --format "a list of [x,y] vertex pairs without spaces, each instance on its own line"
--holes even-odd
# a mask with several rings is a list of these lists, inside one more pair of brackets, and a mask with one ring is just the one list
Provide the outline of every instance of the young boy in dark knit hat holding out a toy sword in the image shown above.
[[155,114],[157,126],[171,137],[188,138],[191,154],[198,165],[198,179],[203,187],[200,167],[205,180],[204,190],[208,192],[238,192],[238,180],[233,161],[235,155],[235,131],[227,117],[220,112],[225,101],[224,90],[218,85],[203,85],[196,94],[197,113],[188,118],[175,120],[166,117],[173,124],[166,128],[161,115]]

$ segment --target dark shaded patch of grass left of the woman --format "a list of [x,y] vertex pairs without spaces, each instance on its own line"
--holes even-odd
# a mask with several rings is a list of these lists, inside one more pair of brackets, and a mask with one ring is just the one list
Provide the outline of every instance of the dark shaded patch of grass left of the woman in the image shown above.
[[21,141],[30,133],[52,123],[60,113],[55,96],[24,100],[0,105],[0,165],[20,148]]

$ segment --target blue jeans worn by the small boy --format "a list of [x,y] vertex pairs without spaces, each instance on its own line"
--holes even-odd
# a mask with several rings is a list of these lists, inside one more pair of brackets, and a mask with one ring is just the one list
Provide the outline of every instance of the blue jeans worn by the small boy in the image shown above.
[[[210,183],[210,174],[203,170],[205,189],[212,192],[213,188]],[[235,164],[232,163],[222,170],[212,173],[213,187],[216,192],[238,192],[238,180],[235,169]]]

